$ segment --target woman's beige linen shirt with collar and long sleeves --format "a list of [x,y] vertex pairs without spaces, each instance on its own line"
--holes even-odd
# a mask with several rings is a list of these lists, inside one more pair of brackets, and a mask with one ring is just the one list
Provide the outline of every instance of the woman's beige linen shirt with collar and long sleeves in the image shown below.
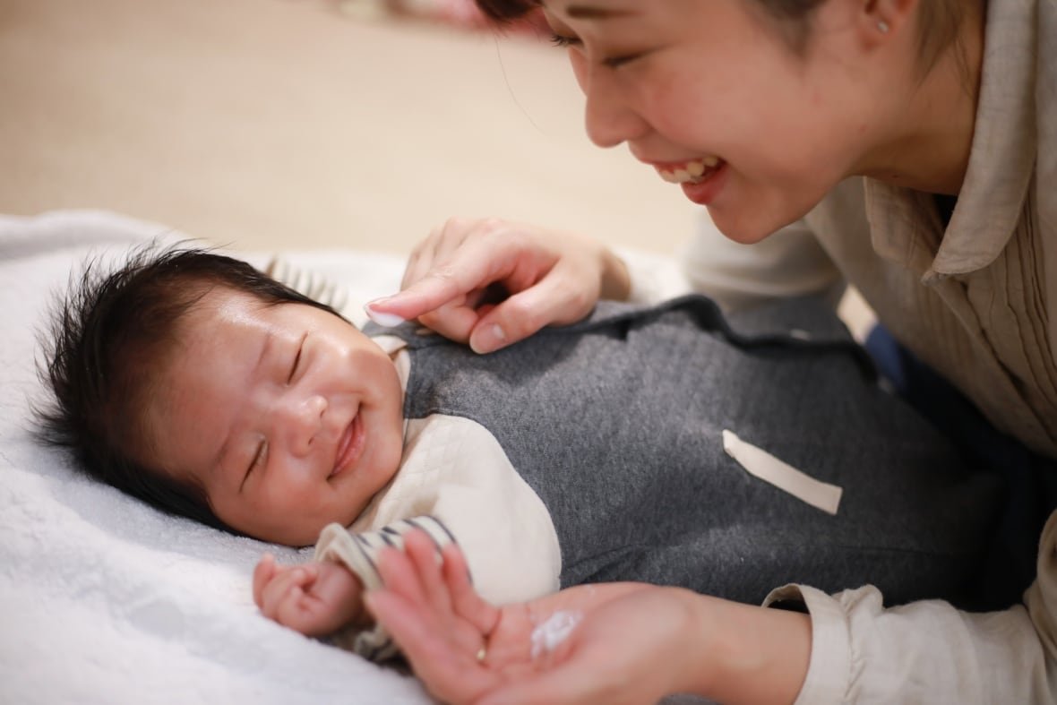
[[[750,248],[707,230],[686,274],[722,294],[730,277],[707,270],[735,262],[746,291],[762,295],[754,282],[774,287],[776,272],[793,289],[811,282],[790,293],[839,273],[997,428],[1057,457],[1057,0],[988,3],[972,150],[946,229],[932,197],[865,179],[786,229],[768,241],[810,233],[820,245],[801,251],[792,274],[773,252],[754,272]],[[886,610],[872,587],[830,596],[786,586],[775,599],[800,599],[812,617],[798,703],[1057,702],[1057,515],[1025,606],[1004,612],[940,601]]]

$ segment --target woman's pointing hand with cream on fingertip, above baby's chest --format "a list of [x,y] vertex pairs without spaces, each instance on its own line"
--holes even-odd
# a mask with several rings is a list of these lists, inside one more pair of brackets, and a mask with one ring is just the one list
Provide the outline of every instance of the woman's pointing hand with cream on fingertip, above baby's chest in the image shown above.
[[624,262],[600,243],[496,219],[451,219],[408,260],[401,293],[367,304],[375,320],[418,318],[480,353],[544,326],[573,323],[599,298],[627,298]]

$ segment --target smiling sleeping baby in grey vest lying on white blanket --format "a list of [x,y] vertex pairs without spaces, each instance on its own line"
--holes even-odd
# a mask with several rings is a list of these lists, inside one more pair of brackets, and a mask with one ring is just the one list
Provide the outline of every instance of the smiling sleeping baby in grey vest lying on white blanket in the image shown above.
[[303,565],[262,558],[258,606],[377,660],[393,648],[360,598],[412,527],[458,543],[497,604],[597,580],[957,599],[990,480],[877,387],[822,304],[734,322],[698,296],[605,303],[481,356],[411,323],[360,331],[239,260],[147,248],[88,267],[59,310],[43,435],[166,512],[315,543]]

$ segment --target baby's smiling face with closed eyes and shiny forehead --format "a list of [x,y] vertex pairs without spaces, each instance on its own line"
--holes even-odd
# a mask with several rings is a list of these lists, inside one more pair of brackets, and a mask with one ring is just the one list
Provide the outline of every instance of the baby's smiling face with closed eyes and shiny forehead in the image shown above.
[[152,390],[153,464],[193,478],[216,515],[307,545],[393,476],[403,393],[389,355],[337,316],[219,287],[180,323]]

